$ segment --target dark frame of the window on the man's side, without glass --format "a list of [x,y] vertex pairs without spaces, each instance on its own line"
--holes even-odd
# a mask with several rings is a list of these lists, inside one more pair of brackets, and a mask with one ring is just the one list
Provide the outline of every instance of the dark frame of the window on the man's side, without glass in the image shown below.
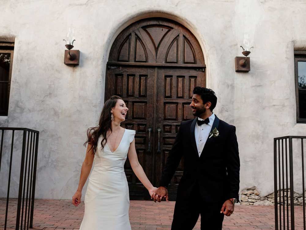
[[[295,97],[297,104],[297,123],[306,123],[306,118],[300,118],[300,105],[299,105],[299,79],[298,79],[298,66],[299,61],[306,62],[306,50],[294,51],[294,77],[295,77]],[[306,89],[302,89],[306,90]]]

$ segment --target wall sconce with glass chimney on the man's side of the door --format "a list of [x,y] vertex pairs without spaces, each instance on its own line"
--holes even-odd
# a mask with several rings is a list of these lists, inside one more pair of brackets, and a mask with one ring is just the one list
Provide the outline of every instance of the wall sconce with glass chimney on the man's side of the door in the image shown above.
[[[249,46],[248,42],[248,35],[244,35],[244,40],[243,40],[244,47],[240,46],[243,51],[242,54],[245,56],[244,57],[235,57],[235,71],[236,72],[249,72],[251,70],[251,65],[250,65],[250,58],[248,55],[251,53],[251,49],[254,48],[253,46]],[[250,47],[250,48],[248,48]]]

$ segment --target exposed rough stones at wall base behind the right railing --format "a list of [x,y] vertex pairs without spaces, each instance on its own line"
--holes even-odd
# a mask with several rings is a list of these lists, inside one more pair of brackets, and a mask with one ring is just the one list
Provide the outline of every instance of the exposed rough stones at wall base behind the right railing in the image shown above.
[[[285,193],[285,205],[287,204],[286,190]],[[290,205],[290,189],[288,189],[288,198]],[[246,188],[241,191],[241,205],[274,205],[274,192],[267,196],[260,196],[256,187]],[[279,204],[279,190],[277,192],[277,202]],[[281,202],[283,204],[283,190],[281,190]],[[303,205],[303,194],[294,192],[294,205]]]

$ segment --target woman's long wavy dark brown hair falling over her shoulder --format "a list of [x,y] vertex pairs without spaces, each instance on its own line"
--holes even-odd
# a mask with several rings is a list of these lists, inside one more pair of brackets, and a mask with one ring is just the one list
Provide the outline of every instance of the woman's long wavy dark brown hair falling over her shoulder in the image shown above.
[[[96,153],[97,151],[97,146],[98,146],[98,139],[101,135],[103,135],[103,139],[101,141],[101,150],[104,148],[107,137],[106,137],[106,132],[107,130],[110,129],[112,132],[112,126],[111,126],[111,108],[114,108],[116,106],[117,101],[122,98],[119,96],[111,96],[110,99],[108,99],[103,106],[101,116],[99,119],[99,125],[96,127],[90,127],[87,130],[87,141],[84,143],[84,146],[86,147],[86,144],[91,144],[93,148],[93,154]],[[103,143],[105,141],[105,143]],[[90,150],[91,150],[90,149]]]

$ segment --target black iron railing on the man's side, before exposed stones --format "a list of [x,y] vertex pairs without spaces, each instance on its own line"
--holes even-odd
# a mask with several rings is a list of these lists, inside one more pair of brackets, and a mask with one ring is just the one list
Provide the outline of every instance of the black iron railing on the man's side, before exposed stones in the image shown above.
[[[293,139],[301,140],[300,145],[301,145],[301,157],[302,157],[301,174],[302,174],[302,180],[303,180],[302,182],[303,194],[302,195],[303,195],[304,230],[306,228],[306,224],[305,224],[305,185],[304,185],[304,145],[303,145],[303,140],[306,139],[306,136],[285,136],[285,137],[274,138],[274,209],[275,209],[275,229],[276,230],[278,229],[279,230],[282,230],[282,229],[283,230],[285,229],[294,230],[295,229],[294,228],[294,189],[293,189],[293,184],[294,184],[293,183],[294,182],[293,181],[293,147],[292,147]],[[289,159],[288,159],[288,150],[289,150]],[[288,163],[289,163],[289,176],[288,176]],[[288,184],[288,179],[289,179],[289,184]],[[288,191],[288,189],[290,191]],[[278,206],[279,206],[279,213],[278,213]],[[290,206],[290,221],[289,221],[289,206]]]

